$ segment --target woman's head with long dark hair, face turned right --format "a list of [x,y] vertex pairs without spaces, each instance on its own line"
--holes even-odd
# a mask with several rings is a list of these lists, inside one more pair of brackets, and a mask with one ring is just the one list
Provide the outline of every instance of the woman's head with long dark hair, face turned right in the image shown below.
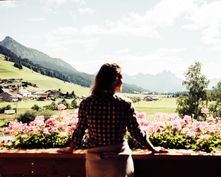
[[98,71],[91,92],[94,95],[99,95],[105,91],[113,91],[116,86],[122,84],[121,67],[116,64],[103,64]]

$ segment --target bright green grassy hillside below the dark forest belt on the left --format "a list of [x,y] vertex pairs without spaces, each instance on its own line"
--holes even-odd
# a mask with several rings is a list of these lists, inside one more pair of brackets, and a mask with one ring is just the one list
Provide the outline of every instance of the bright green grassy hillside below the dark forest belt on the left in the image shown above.
[[34,72],[33,70],[30,70],[26,67],[23,67],[23,69],[18,69],[14,67],[13,62],[5,60],[5,57],[5,55],[0,54],[0,79],[22,78],[22,81],[24,82],[36,84],[37,87],[29,87],[31,91],[36,92],[42,92],[42,90],[61,89],[63,93],[71,93],[72,91],[74,91],[75,94],[78,96],[85,96],[89,93],[89,88],[81,87],[73,83],[64,82],[60,79],[48,77],[40,73]]

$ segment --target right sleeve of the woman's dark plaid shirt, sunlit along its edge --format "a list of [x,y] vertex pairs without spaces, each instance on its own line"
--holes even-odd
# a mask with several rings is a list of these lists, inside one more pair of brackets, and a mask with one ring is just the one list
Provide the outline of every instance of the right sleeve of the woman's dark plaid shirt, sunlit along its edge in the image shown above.
[[131,136],[138,141],[143,147],[153,150],[153,145],[150,143],[148,135],[140,128],[136,118],[136,112],[133,103],[130,103],[128,111],[127,129]]

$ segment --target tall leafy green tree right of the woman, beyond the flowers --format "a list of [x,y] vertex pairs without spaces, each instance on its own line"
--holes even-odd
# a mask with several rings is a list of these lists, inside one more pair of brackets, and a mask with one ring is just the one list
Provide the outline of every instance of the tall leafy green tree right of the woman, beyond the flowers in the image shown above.
[[181,115],[190,115],[195,119],[199,119],[201,108],[207,106],[207,87],[209,80],[201,73],[202,64],[195,62],[185,73],[183,85],[188,91],[187,96],[178,98],[177,112]]

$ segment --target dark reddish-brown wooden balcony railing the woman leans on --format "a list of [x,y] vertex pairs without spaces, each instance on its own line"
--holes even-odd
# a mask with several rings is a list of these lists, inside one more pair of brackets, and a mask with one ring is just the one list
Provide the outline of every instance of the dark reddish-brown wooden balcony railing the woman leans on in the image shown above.
[[[220,177],[221,155],[170,150],[133,152],[135,177]],[[85,177],[85,151],[0,150],[0,177]]]

